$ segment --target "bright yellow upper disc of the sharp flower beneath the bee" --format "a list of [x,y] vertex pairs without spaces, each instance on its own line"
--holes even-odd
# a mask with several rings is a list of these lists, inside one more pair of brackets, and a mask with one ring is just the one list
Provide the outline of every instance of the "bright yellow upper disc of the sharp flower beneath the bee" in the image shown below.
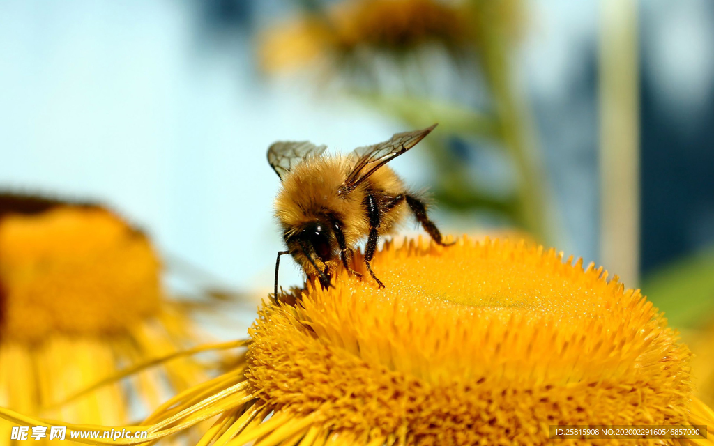
[[386,250],[373,269],[387,288],[341,277],[345,286],[303,299],[311,328],[428,382],[454,372],[553,383],[618,375],[637,366],[659,331],[639,293],[554,251],[411,246]]

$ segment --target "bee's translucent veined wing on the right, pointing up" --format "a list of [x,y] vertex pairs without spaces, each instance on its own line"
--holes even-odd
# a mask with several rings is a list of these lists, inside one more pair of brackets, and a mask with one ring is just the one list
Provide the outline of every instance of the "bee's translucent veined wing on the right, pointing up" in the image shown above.
[[353,191],[369,176],[375,173],[378,168],[381,168],[389,161],[392,161],[397,156],[408,151],[416,143],[421,141],[436,127],[434,124],[431,127],[423,128],[416,131],[407,131],[396,133],[389,141],[378,143],[373,146],[358,147],[352,152],[352,156],[356,158],[355,166],[351,173],[347,176],[342,190],[345,192]]

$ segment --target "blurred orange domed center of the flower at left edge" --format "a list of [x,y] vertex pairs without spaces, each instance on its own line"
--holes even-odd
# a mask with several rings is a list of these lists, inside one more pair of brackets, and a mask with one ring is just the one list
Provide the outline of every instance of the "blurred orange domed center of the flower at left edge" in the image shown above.
[[1,335],[112,333],[159,308],[159,260],[146,237],[94,206],[0,218]]

